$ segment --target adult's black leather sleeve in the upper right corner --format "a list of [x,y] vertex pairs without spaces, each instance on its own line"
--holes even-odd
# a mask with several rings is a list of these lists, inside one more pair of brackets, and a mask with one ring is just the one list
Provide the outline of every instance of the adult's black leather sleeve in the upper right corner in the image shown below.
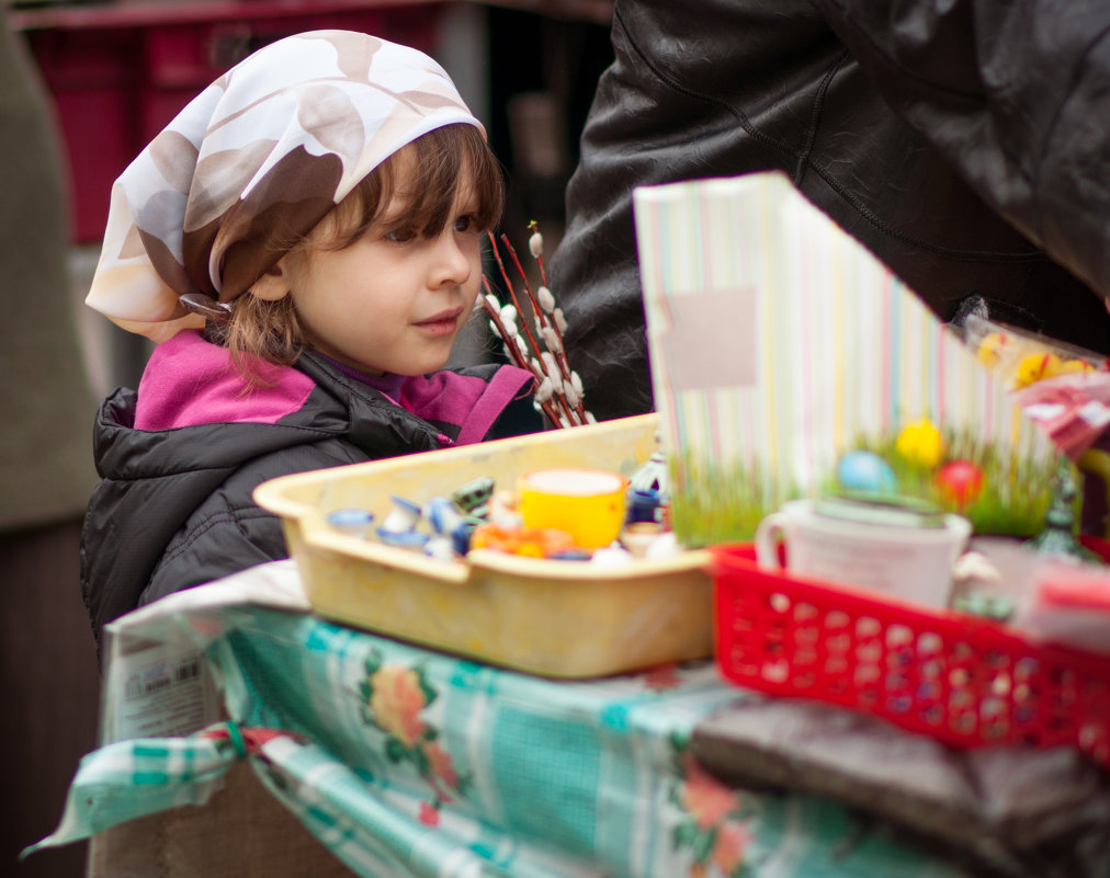
[[813,3],[991,207],[1110,295],[1110,4]]

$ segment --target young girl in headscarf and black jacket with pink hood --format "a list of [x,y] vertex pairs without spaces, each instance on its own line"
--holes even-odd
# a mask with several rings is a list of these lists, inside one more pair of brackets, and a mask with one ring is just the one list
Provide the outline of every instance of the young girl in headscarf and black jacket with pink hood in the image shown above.
[[88,304],[159,343],[101,407],[82,590],[101,626],[286,555],[286,474],[539,429],[531,376],[443,369],[500,166],[444,71],[362,33],[275,42],[112,192]]

